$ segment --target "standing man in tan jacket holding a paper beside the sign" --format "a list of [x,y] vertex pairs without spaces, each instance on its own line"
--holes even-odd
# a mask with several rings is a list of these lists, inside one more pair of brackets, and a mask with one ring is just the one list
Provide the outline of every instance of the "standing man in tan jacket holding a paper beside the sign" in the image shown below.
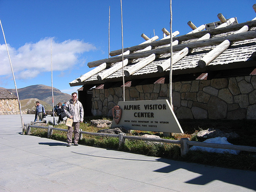
[[70,101],[67,102],[64,108],[64,111],[68,118],[73,119],[72,126],[68,126],[67,146],[71,146],[73,131],[74,131],[74,145],[78,146],[80,122],[83,121],[83,107],[82,107],[82,103],[77,99],[76,92],[72,93],[72,99],[70,99]]

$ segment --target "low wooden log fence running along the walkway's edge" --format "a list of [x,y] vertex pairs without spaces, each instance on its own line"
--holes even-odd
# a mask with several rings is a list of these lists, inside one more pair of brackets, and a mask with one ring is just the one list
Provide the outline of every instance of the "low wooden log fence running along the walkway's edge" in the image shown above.
[[[26,127],[26,131],[27,131],[26,132],[27,135],[31,134],[31,127],[38,128],[38,129],[46,129],[46,130],[48,130],[48,138],[50,138],[50,136],[52,135],[53,130],[68,132],[68,130],[66,130],[66,129],[55,128],[52,125],[49,125],[48,127],[46,127],[46,126],[35,126],[35,125],[31,125],[31,124],[25,124],[25,127]],[[124,133],[120,133],[119,135],[117,135],[117,134],[106,134],[106,133],[92,133],[92,132],[85,132],[85,131],[80,130],[79,139],[82,139],[82,134],[98,136],[98,137],[118,137],[119,138],[119,147],[125,143],[125,139],[180,144],[181,156],[184,156],[188,153],[189,145],[190,146],[195,145],[195,146],[211,147],[211,148],[224,148],[224,149],[228,149],[228,150],[239,150],[239,151],[247,151],[247,152],[256,152],[256,147],[254,147],[254,146],[189,141],[188,138],[181,138],[181,140],[170,140],[170,139],[161,139],[161,138],[146,138],[146,137],[139,137],[139,136],[129,136],[129,135],[125,135]]]

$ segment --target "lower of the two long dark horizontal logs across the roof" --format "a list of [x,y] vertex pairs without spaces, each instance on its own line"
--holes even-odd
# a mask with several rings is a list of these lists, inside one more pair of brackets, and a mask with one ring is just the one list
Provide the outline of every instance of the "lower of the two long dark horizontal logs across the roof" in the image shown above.
[[[206,40],[198,40],[198,41],[193,41],[189,42],[187,44],[179,44],[173,47],[173,51],[180,51],[184,49],[185,47],[189,49],[195,49],[199,47],[205,47],[205,46],[212,46],[212,45],[218,45],[221,44],[224,40],[228,39],[230,41],[240,41],[240,40],[246,40],[246,39],[253,39],[256,38],[256,31],[248,31],[244,33],[239,33],[239,34],[232,34],[228,36],[221,36],[221,37],[216,37],[216,38],[210,38]],[[129,55],[125,55],[124,58],[127,59],[137,59],[137,58],[142,58],[142,57],[147,57],[151,54],[165,54],[169,53],[169,47],[161,47],[158,49],[154,50],[149,50],[149,51],[144,51],[144,52],[139,52],[139,53],[132,53]],[[101,63],[106,62],[106,63],[114,63],[122,60],[122,56],[115,56],[111,58],[106,58],[106,59],[101,59],[101,60],[96,60],[92,62],[88,62],[88,67],[96,67],[99,66]]]

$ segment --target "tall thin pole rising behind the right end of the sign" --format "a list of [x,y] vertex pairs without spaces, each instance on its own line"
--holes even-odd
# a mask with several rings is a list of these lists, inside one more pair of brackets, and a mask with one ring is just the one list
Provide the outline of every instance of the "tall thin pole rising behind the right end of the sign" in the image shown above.
[[173,109],[173,11],[172,0],[170,0],[170,74],[169,74],[169,103]]

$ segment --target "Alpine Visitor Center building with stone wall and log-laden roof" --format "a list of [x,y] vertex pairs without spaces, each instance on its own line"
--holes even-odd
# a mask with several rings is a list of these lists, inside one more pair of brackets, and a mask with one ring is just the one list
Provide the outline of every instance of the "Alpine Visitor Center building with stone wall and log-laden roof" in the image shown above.
[[[191,32],[172,34],[174,112],[178,119],[256,120],[256,17],[241,24],[218,18],[199,27],[188,22]],[[168,99],[170,34],[162,31],[160,40],[142,34],[146,41],[124,48],[125,100]],[[122,98],[121,53],[89,62],[96,68],[70,82],[82,86],[79,99],[90,97],[82,103],[92,115],[111,116]]]

